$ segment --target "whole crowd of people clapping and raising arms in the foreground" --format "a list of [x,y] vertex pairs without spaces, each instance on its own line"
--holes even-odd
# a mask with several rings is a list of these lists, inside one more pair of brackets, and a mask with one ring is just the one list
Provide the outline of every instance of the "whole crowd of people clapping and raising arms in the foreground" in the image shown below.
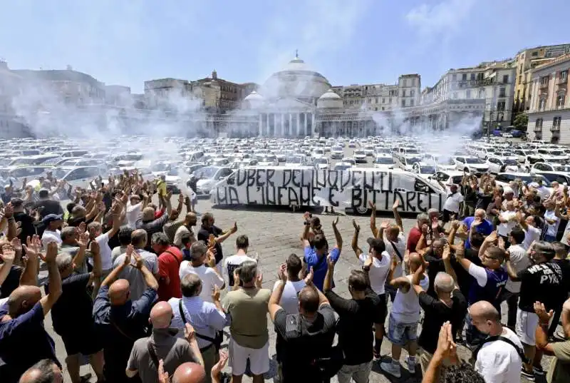
[[[394,221],[380,225],[371,204],[363,247],[353,220],[360,267],[343,297],[338,215],[333,243],[321,218],[304,215],[304,254],[283,260],[269,290],[237,223],[219,228],[184,195],[172,207],[160,185],[125,174],[68,189],[64,211],[48,188],[57,181],[42,182],[10,190],[0,220],[3,383],[63,382],[63,367],[73,383],[87,382],[83,357],[97,382],[240,383],[247,374],[259,383],[270,369],[268,320],[284,383],[366,383],[374,363],[394,378],[421,369],[425,383],[518,383],[546,374],[544,354],[554,355],[548,382],[570,382],[566,186],[466,176],[442,212],[418,214],[408,233],[398,201]],[[232,235],[236,252],[224,256]]]

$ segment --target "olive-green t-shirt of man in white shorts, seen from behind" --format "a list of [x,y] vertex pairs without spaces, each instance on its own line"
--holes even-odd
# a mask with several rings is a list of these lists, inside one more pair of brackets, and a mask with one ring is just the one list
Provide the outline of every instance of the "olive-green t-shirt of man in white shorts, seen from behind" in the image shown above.
[[239,288],[224,297],[224,309],[232,316],[229,330],[242,347],[260,349],[269,339],[267,305],[271,290]]

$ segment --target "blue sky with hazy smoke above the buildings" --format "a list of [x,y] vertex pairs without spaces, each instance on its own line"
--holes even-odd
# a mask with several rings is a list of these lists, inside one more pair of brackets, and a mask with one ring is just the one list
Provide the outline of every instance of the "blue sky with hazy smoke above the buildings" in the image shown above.
[[[155,78],[217,71],[263,83],[299,57],[333,86],[450,68],[570,42],[568,0],[0,0],[0,58],[142,93]],[[566,40],[564,40],[566,39]]]

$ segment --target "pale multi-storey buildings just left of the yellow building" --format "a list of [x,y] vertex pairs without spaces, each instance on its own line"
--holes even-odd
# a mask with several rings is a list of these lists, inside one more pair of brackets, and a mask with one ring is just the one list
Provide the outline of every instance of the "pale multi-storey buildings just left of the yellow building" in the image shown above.
[[420,96],[422,105],[448,100],[483,100],[484,129],[511,124],[515,68],[508,61],[482,63],[472,68],[450,69]]

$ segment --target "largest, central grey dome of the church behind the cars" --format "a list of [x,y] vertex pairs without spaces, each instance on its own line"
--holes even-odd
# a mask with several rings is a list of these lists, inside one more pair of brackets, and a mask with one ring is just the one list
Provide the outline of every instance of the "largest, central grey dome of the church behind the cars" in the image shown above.
[[313,71],[299,56],[269,76],[261,86],[266,98],[297,98],[313,105],[329,88],[331,84],[325,76]]

